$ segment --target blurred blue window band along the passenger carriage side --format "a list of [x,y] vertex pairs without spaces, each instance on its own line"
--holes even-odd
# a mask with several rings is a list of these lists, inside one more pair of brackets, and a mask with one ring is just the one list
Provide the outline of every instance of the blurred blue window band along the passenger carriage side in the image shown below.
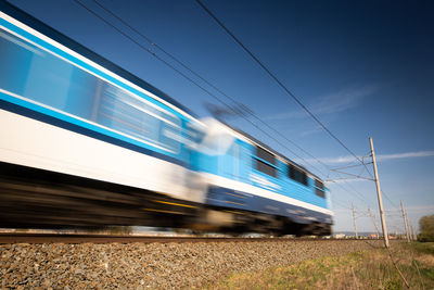
[[120,138],[179,151],[181,119],[164,108],[7,31],[0,31],[0,88],[9,94],[97,124]]

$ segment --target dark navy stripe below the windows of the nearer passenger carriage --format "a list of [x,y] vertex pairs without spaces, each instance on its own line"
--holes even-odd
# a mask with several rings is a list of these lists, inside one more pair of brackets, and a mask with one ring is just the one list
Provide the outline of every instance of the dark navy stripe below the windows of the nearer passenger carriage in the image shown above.
[[72,124],[69,122],[66,122],[66,121],[63,121],[63,119],[60,119],[60,118],[56,118],[56,117],[53,117],[50,115],[42,114],[40,112],[36,112],[36,111],[27,109],[27,108],[23,108],[21,105],[14,104],[14,103],[10,103],[10,102],[1,100],[1,99],[0,99],[0,109],[9,111],[11,113],[15,113],[15,114],[25,116],[25,117],[37,119],[37,121],[43,122],[46,124],[50,124],[50,125],[63,128],[63,129],[78,133],[80,135],[85,135],[85,136],[88,136],[88,137],[91,137],[91,138],[94,138],[94,139],[107,142],[107,143],[112,143],[112,144],[115,144],[115,146],[118,146],[122,148],[126,148],[126,149],[142,153],[142,154],[146,154],[149,156],[164,160],[164,161],[177,164],[177,165],[186,166],[186,163],[179,159],[171,157],[171,156],[155,152],[153,150],[132,144],[132,143],[124,141],[124,140],[119,140],[117,138],[91,130],[89,128],[78,126],[76,124]]

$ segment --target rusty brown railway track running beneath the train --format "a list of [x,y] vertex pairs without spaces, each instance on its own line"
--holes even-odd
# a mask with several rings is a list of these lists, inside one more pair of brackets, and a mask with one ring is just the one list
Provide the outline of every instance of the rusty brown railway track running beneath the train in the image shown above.
[[[28,234],[1,232],[0,244],[5,243],[182,243],[182,242],[282,242],[282,241],[330,241],[312,238],[240,238],[240,237],[161,237],[120,236],[97,234]],[[346,239],[348,240],[348,239]],[[340,240],[333,240],[340,241]]]

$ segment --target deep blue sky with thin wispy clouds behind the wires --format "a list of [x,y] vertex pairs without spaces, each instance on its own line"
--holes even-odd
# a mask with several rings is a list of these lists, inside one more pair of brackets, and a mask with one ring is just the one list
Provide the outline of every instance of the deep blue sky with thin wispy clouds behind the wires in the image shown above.
[[[92,0],[80,1],[151,48]],[[194,0],[99,1],[328,168],[357,164]],[[205,103],[218,104],[73,0],[10,2],[165,91],[200,117],[209,115]],[[391,231],[403,230],[397,211],[400,200],[414,226],[421,216],[434,214],[433,1],[203,2],[353,152],[366,155],[368,137],[373,138]],[[158,49],[153,51],[176,65]],[[276,134],[285,147],[241,117],[229,123],[321,178],[340,178]],[[348,172],[359,174],[361,169]],[[369,177],[367,172],[361,175]],[[328,186],[335,212],[334,230],[353,230],[352,202],[358,229],[374,229],[367,217],[370,207],[379,222],[372,181]]]

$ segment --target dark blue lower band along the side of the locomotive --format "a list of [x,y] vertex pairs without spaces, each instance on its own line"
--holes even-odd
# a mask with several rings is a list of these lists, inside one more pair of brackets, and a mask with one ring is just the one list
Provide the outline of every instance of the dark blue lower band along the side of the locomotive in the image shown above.
[[286,216],[299,224],[309,224],[311,222],[332,224],[331,215],[222,187],[209,187],[205,203],[215,206]]

